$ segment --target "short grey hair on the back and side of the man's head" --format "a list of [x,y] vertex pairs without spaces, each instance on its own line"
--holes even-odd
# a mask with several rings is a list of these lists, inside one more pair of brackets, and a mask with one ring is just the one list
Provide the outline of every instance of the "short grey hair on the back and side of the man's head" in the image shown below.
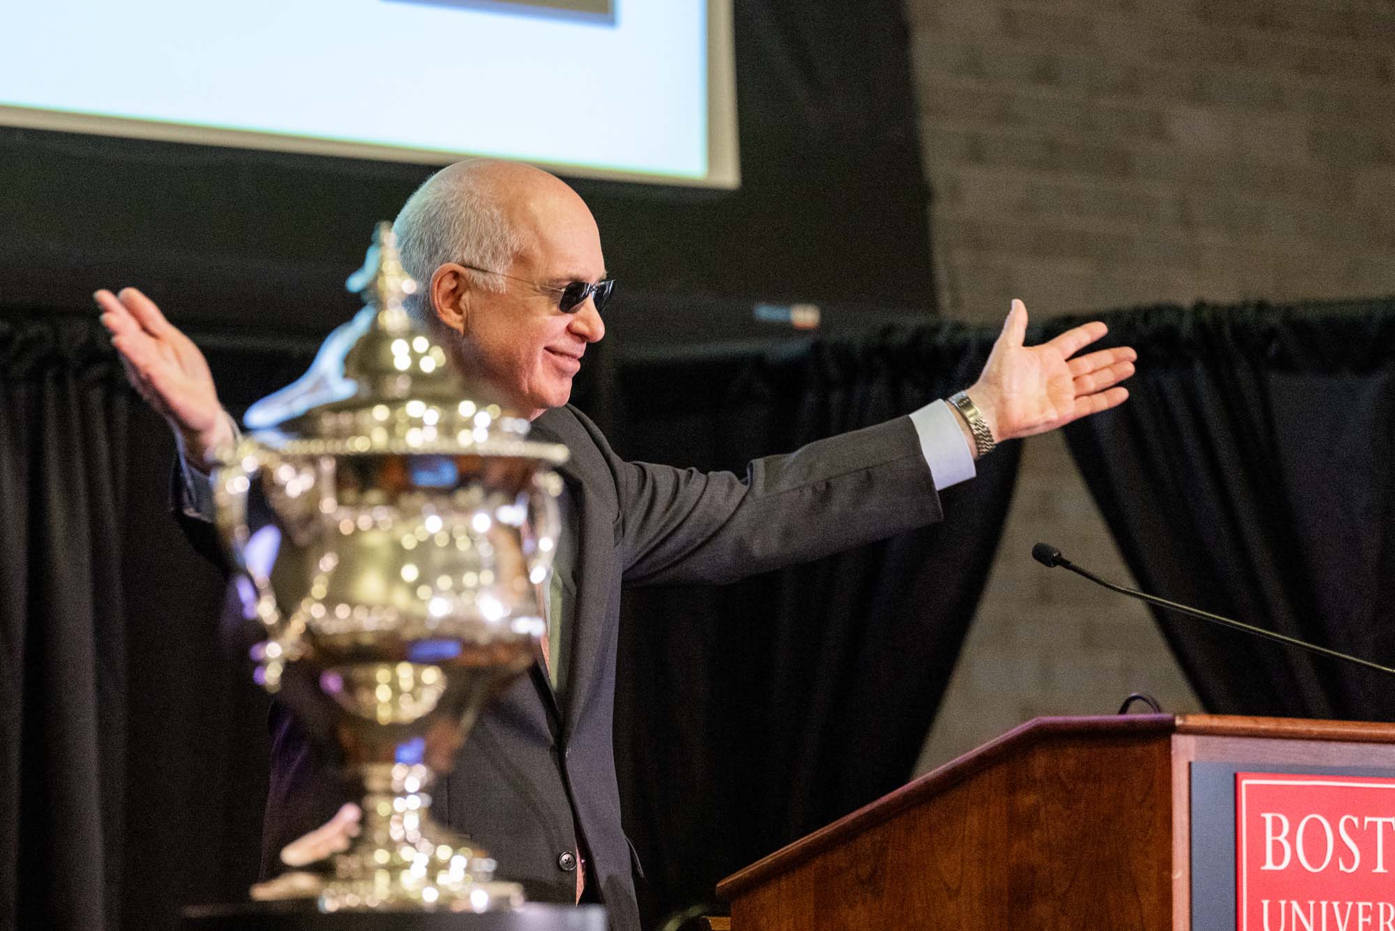
[[[460,262],[502,272],[523,251],[522,234],[504,216],[483,174],[467,164],[437,171],[407,198],[392,223],[402,265],[417,282],[406,311],[418,323],[435,322],[430,290],[438,268]],[[484,290],[504,290],[498,275],[469,275]]]

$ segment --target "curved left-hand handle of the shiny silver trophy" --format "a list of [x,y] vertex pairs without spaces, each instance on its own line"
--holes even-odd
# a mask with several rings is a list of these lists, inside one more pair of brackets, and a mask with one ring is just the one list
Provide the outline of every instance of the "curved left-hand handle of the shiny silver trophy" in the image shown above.
[[[252,648],[252,659],[259,663],[258,680],[268,691],[280,687],[280,672],[286,662],[300,656],[299,637],[289,629],[276,605],[271,578],[261,569],[247,563],[247,495],[252,478],[262,470],[262,459],[275,459],[255,440],[244,439],[223,457],[223,464],[213,474],[213,505],[218,535],[227,552],[234,573],[241,573],[252,584],[255,595],[254,612],[269,634],[265,643]],[[275,463],[268,461],[268,466]]]

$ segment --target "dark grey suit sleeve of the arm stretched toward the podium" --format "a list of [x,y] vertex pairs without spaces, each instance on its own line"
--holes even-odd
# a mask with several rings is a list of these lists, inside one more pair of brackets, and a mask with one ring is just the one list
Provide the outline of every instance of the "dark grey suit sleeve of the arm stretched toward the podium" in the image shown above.
[[940,518],[900,417],[757,459],[745,478],[614,460],[625,581],[728,583]]

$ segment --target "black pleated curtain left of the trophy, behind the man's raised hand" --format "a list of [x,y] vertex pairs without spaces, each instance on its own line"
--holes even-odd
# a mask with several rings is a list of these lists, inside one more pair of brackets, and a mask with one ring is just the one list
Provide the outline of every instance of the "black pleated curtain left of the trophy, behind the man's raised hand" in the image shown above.
[[[308,357],[209,361],[240,410]],[[0,928],[173,928],[255,879],[265,698],[169,514],[172,461],[95,319],[0,319]]]

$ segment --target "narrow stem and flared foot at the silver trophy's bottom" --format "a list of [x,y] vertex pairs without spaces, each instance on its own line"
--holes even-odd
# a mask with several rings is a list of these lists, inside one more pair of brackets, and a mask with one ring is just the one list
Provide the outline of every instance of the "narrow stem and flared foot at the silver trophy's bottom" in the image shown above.
[[333,877],[319,893],[324,910],[494,911],[523,903],[522,886],[494,881],[495,863],[484,850],[431,818],[430,767],[364,764],[359,771],[361,829],[333,857]]

